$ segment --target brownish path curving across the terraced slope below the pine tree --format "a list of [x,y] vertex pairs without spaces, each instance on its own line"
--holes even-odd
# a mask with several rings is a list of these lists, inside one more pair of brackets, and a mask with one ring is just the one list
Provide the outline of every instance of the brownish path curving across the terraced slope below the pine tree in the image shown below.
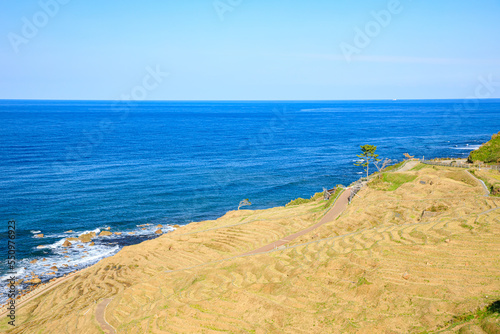
[[303,236],[304,234],[307,234],[307,233],[317,229],[318,227],[320,227],[321,225],[323,225],[325,223],[328,223],[328,222],[335,220],[347,208],[347,205],[349,204],[349,196],[350,195],[351,195],[351,189],[347,188],[339,196],[339,198],[337,199],[337,201],[335,202],[333,207],[330,209],[330,211],[328,211],[328,213],[326,215],[324,215],[323,218],[321,218],[319,223],[317,223],[311,227],[308,227],[305,230],[302,230],[302,231],[299,231],[297,233],[291,234],[287,237],[284,237],[283,239],[280,239],[278,241],[275,241],[275,242],[270,243],[268,245],[265,245],[263,247],[257,248],[251,252],[245,253],[243,255],[254,255],[254,254],[264,253],[264,252],[268,252],[270,250],[276,249],[276,248],[281,247],[284,244],[286,244],[294,239],[297,239],[298,237]]

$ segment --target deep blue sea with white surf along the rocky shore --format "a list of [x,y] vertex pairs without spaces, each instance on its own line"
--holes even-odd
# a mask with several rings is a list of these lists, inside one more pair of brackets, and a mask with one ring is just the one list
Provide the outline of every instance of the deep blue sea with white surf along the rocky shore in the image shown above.
[[[3,100],[0,124],[0,251],[13,219],[18,276],[46,281],[46,264],[56,276],[91,265],[158,224],[168,232],[243,199],[264,209],[347,185],[361,176],[363,144],[394,161],[466,157],[500,131],[500,101]],[[64,253],[64,238],[107,227],[123,234]]]

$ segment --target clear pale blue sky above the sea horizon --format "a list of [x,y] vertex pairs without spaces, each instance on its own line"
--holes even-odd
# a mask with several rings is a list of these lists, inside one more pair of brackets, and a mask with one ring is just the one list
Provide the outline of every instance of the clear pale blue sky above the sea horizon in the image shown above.
[[2,1],[0,99],[498,98],[499,17],[498,0]]

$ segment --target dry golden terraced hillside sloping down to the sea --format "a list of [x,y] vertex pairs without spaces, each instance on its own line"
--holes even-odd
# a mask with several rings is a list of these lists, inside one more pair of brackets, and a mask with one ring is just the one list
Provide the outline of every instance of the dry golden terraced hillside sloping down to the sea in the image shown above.
[[326,214],[305,202],[125,247],[28,302],[8,333],[103,333],[102,319],[118,333],[499,332],[500,199],[466,171],[375,179],[338,219],[241,256]]

